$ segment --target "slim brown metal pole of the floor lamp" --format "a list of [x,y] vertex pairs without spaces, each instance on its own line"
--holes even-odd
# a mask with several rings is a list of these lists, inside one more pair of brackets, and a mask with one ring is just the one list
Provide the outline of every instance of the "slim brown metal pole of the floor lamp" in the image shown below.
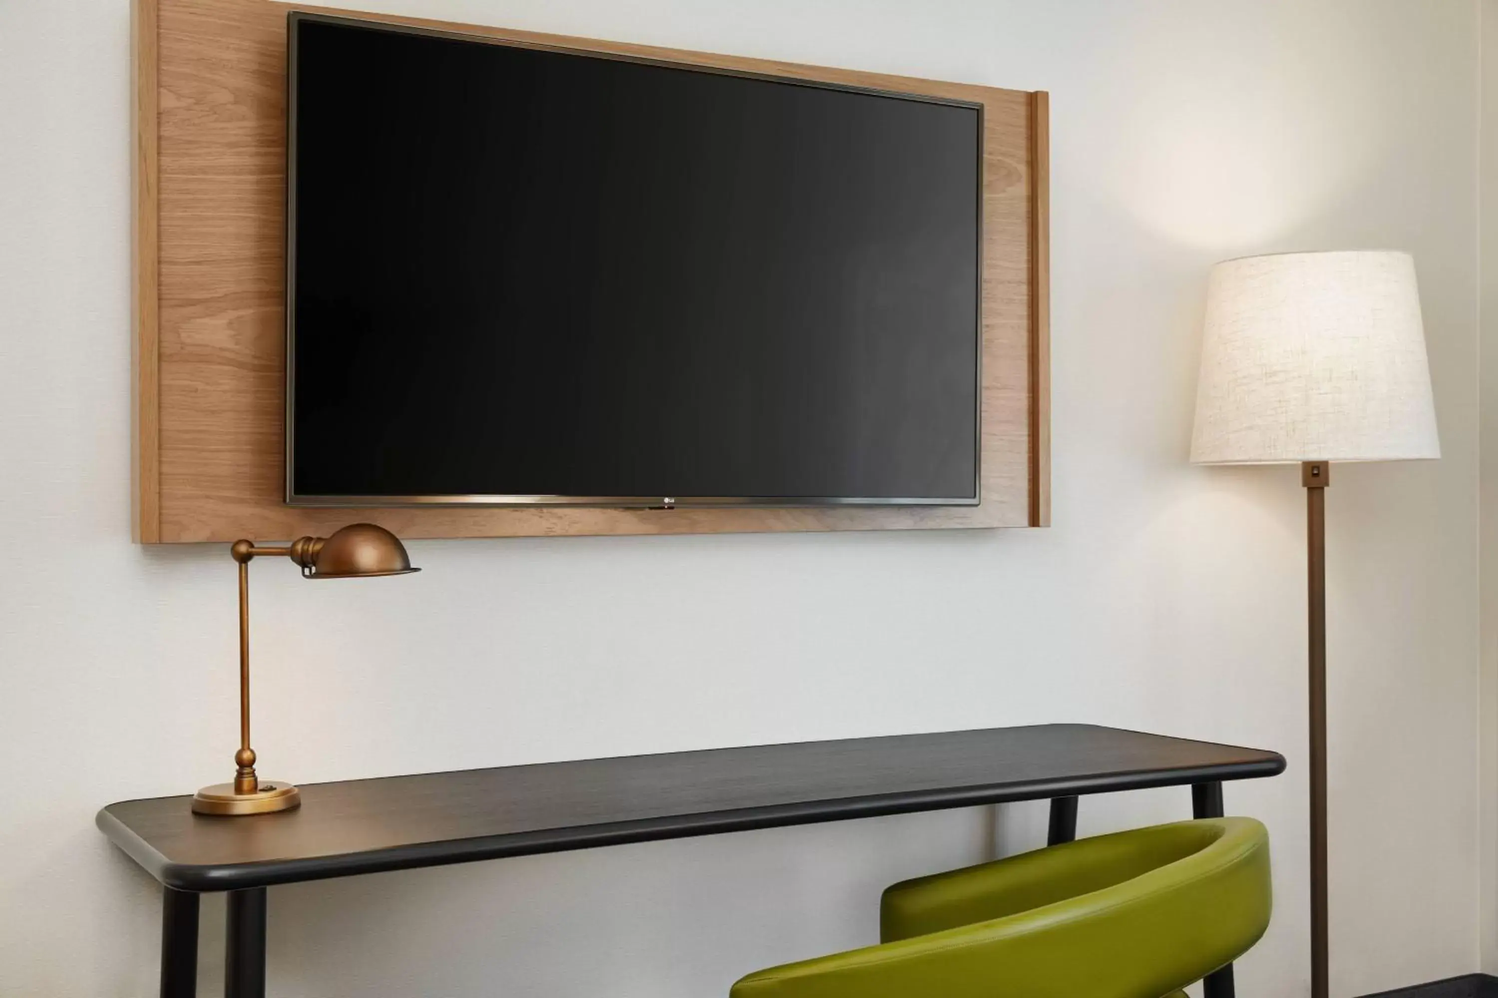
[[1311,636],[1311,995],[1327,998],[1326,898],[1326,461],[1300,465],[1306,489],[1306,569]]

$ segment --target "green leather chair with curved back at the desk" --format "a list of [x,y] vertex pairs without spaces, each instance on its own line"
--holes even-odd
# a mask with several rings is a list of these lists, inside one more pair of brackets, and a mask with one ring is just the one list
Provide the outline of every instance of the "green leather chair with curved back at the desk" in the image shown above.
[[1158,824],[894,884],[879,946],[749,974],[733,998],[1183,998],[1269,911],[1263,824]]

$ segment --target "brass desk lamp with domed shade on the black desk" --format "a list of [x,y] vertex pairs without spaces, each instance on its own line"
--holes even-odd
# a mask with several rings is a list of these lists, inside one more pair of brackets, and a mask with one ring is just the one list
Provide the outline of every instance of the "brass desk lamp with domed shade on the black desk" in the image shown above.
[[240,751],[234,754],[238,771],[234,783],[199,790],[192,809],[226,815],[288,811],[301,803],[301,792],[289,783],[262,783],[255,775],[255,750],[250,748],[250,560],[285,555],[301,566],[304,579],[369,579],[421,569],[410,567],[410,557],[395,534],[374,524],[352,524],[331,537],[298,537],[289,548],[258,548],[252,540],[235,540],[229,552],[240,563]]

